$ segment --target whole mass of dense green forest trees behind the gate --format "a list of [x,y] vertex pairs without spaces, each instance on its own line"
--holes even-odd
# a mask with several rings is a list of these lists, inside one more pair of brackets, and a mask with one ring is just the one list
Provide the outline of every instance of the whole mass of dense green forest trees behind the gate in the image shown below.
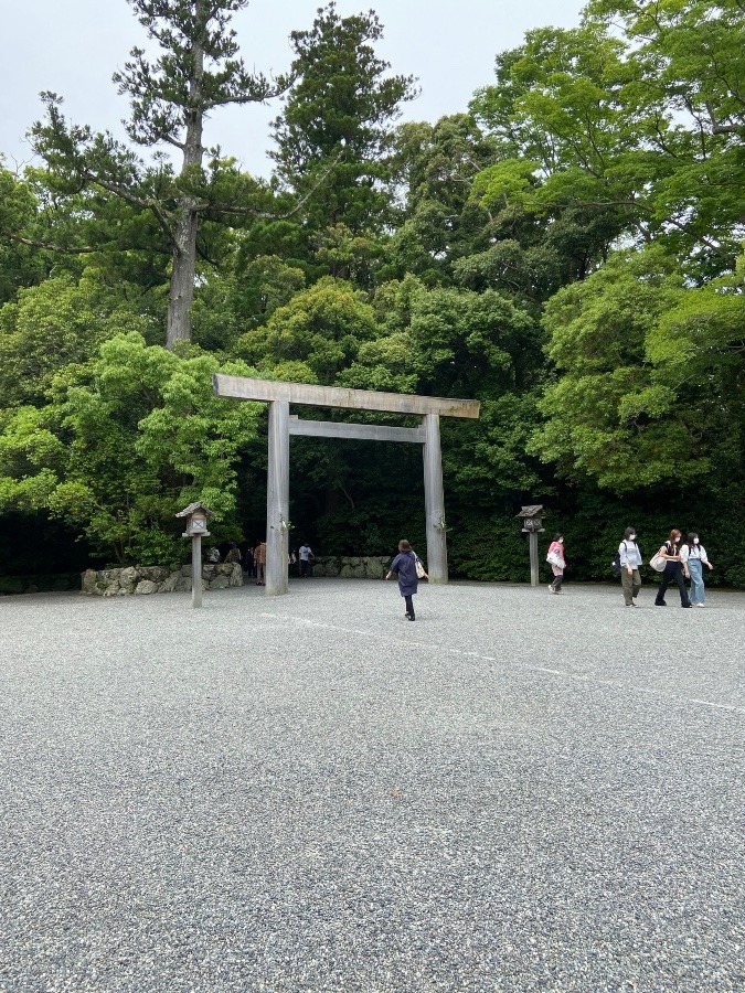
[[[456,576],[526,578],[539,502],[574,578],[674,525],[745,586],[741,0],[593,0],[406,124],[372,12],[319,10],[269,81],[246,0],[129,2],[160,52],[115,76],[130,143],[44,94],[38,164],[0,169],[0,574],[183,559],[195,499],[256,541],[266,409],[214,397],[221,370],[479,399],[443,423]],[[272,97],[265,180],[206,141]],[[415,446],[294,438],[290,473],[295,543],[424,546]]]

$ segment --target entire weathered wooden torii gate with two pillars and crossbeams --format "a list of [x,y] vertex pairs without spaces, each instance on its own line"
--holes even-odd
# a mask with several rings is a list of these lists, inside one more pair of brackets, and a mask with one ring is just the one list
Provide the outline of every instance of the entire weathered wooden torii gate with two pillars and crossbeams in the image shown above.
[[[408,441],[424,450],[424,502],[427,533],[427,572],[430,583],[447,583],[445,540],[445,494],[439,439],[440,417],[479,416],[478,401],[447,399],[439,396],[413,396],[406,393],[375,393],[338,386],[311,386],[245,376],[212,377],[216,396],[269,404],[269,461],[266,487],[266,594],[288,590],[289,552],[289,439],[290,435],[313,438],[356,438],[364,441]],[[347,410],[375,410],[391,414],[419,414],[418,428],[387,427],[374,424],[339,424],[301,420],[290,417],[289,405],[339,407]]]

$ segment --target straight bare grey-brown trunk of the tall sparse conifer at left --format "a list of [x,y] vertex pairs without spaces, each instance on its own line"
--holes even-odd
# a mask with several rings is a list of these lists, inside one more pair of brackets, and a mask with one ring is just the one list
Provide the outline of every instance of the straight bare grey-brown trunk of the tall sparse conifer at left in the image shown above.
[[[183,142],[181,175],[202,169],[202,130],[204,110],[202,104],[202,79],[204,75],[204,52],[199,41],[194,42],[192,76],[189,82],[189,108],[185,114],[187,134]],[[191,178],[193,181],[193,177]],[[194,299],[194,277],[196,271],[196,229],[199,226],[199,201],[194,196],[182,196],[179,201],[179,220],[173,232],[173,263],[171,285],[168,293],[167,348],[171,351],[179,341],[191,341],[191,305]]]

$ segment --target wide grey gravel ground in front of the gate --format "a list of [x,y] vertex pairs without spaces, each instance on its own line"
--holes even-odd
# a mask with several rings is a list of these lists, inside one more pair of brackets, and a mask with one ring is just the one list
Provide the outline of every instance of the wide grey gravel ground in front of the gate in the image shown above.
[[0,600],[0,990],[745,989],[745,595]]

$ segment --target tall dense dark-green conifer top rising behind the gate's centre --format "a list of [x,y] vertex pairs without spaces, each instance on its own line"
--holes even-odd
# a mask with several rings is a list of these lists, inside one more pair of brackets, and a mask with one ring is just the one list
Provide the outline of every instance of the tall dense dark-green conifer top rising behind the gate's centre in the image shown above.
[[315,229],[343,224],[360,232],[385,218],[391,125],[417,88],[413,76],[386,75],[390,64],[374,51],[382,36],[372,10],[340,18],[334,3],[319,8],[310,31],[290,35],[296,83],[273,124],[277,148],[269,154],[295,193],[318,188],[307,206]]

